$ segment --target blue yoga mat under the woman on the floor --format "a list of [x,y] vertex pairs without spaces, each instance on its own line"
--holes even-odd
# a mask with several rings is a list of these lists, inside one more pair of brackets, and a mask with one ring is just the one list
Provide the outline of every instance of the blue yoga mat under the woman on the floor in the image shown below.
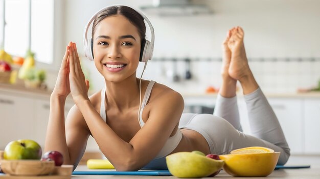
[[[277,165],[275,169],[296,169],[310,168],[310,165]],[[169,170],[146,170],[146,171],[74,171],[73,175],[153,175],[153,176],[169,176]]]

